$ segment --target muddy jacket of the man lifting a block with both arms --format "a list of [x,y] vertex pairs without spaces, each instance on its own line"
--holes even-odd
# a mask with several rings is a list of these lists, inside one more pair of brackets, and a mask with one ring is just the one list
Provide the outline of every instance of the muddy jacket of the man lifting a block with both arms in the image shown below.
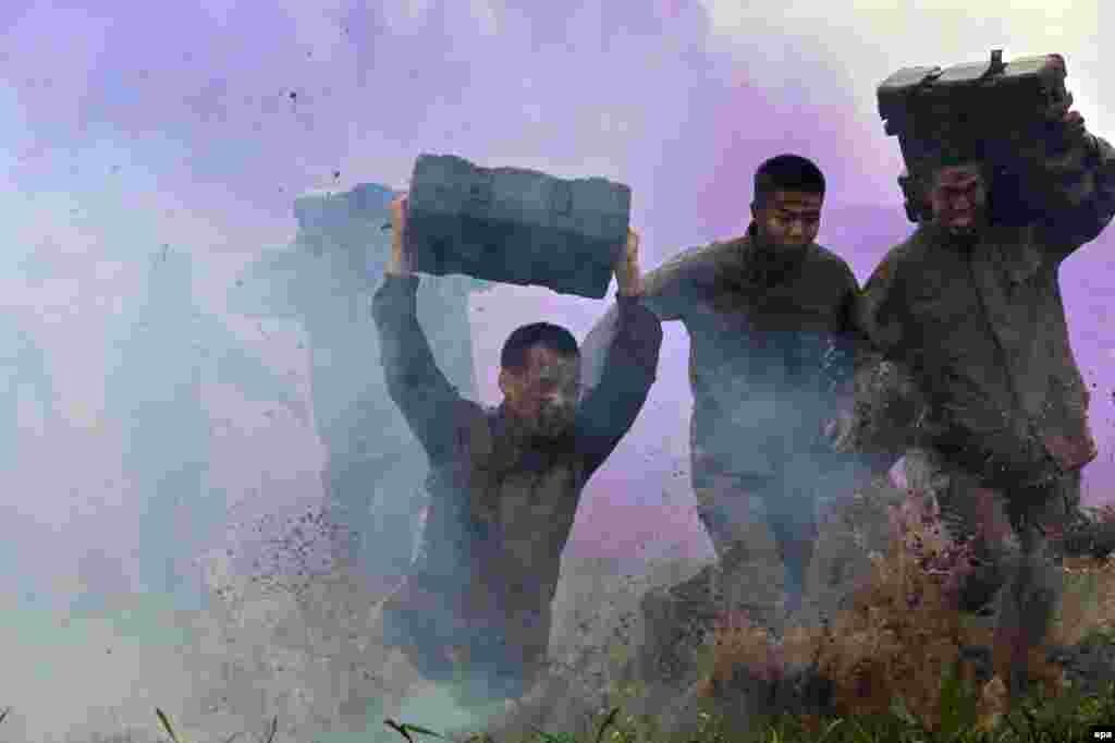
[[503,407],[462,398],[438,370],[416,319],[416,277],[386,277],[372,300],[388,392],[430,461],[425,548],[389,609],[426,609],[448,624],[498,628],[537,655],[581,491],[639,415],[658,366],[661,326],[620,297],[620,324],[600,383],[573,432],[526,447]]

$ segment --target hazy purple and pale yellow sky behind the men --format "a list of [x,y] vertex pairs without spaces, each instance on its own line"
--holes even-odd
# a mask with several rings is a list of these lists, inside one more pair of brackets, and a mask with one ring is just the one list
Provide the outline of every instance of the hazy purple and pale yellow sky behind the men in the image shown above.
[[[195,288],[223,312],[235,271],[292,237],[294,195],[403,185],[417,154],[453,152],[630,184],[649,268],[745,228],[755,166],[794,151],[824,168],[831,214],[870,205],[889,215],[862,230],[831,221],[822,231],[822,241],[838,237],[831,247],[862,280],[908,229],[894,184],[898,143],[883,134],[874,99],[878,83],[899,67],[978,60],[991,48],[1008,58],[1059,51],[1089,127],[1115,135],[1115,102],[1101,95],[1109,80],[1101,74],[1098,1],[770,8],[735,0],[2,3],[8,240],[0,296],[45,346],[68,416],[65,430],[36,433],[28,412],[37,459],[4,489],[31,522],[70,534],[65,549],[38,540],[28,553],[58,556],[55,572],[72,585],[74,554],[112,542],[114,529],[134,521],[101,411],[101,347],[109,315],[163,244],[195,253]],[[1086,248],[1063,272],[1082,365],[1101,380],[1115,348],[1099,317],[1115,291],[1112,245]],[[18,270],[27,255],[48,267],[35,281]],[[479,299],[473,321],[485,402],[497,396],[498,346],[522,318],[561,318],[583,336],[603,310],[604,302],[515,287]],[[306,374],[297,326],[222,317],[277,366]],[[620,524],[646,524],[641,531],[653,534],[671,522],[691,549],[706,550],[688,477],[669,476],[676,461],[686,465],[685,348],[671,328],[650,406],[590,488],[574,543],[591,547],[609,533],[627,549],[629,534],[614,533]],[[290,416],[264,417],[264,406],[216,384],[207,398],[222,437],[215,467],[231,493],[262,488],[268,508],[318,496],[321,450],[310,432]],[[1109,402],[1104,394],[1095,405],[1104,459]],[[648,423],[659,419],[668,425]],[[59,460],[70,466],[51,466]],[[638,462],[646,465],[636,473]],[[666,505],[656,500],[663,489],[673,493]],[[23,495],[32,491],[33,499]]]

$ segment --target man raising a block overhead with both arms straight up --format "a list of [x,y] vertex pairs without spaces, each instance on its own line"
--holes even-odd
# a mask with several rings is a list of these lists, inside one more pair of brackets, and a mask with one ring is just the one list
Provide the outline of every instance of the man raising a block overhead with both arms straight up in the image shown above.
[[405,215],[405,200],[392,204],[391,263],[372,316],[388,392],[429,456],[430,501],[424,549],[384,607],[385,640],[427,678],[462,673],[463,703],[514,697],[545,660],[580,494],[646,402],[661,326],[639,299],[631,233],[614,268],[619,329],[599,385],[580,399],[575,339],[529,325],[503,347],[503,403],[484,411],[449,385],[418,325]]

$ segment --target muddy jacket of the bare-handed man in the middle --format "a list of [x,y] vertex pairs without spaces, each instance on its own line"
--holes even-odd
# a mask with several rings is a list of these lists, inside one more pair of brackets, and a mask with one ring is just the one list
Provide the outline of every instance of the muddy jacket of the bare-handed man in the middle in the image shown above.
[[644,301],[689,332],[694,474],[777,475],[823,445],[833,393],[851,376],[855,276],[811,244],[765,272],[758,235],[685,251],[644,279]]

